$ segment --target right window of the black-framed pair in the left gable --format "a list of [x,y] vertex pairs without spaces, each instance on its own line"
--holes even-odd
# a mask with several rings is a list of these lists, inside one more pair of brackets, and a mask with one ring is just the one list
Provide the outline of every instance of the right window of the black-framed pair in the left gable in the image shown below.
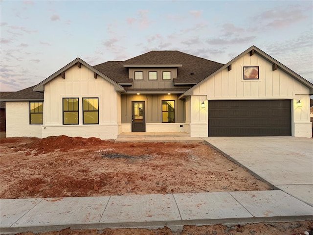
[[98,98],[83,98],[83,124],[99,124]]

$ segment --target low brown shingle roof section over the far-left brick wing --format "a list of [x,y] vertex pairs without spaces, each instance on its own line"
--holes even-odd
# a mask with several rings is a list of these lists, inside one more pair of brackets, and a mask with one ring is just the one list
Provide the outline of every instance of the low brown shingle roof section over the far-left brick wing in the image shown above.
[[1,92],[0,99],[1,101],[10,101],[10,100],[44,100],[44,93],[34,92],[33,87],[28,87],[17,92]]

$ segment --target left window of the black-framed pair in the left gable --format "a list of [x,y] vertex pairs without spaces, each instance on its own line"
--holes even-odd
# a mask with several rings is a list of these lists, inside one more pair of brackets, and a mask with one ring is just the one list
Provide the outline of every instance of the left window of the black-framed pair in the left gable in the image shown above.
[[78,124],[78,98],[63,98],[63,124]]

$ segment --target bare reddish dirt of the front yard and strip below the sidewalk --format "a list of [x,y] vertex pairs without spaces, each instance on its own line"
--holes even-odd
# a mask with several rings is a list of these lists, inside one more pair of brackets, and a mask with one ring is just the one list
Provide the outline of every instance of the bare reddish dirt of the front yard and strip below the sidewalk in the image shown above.
[[[67,136],[0,140],[0,198],[269,190],[204,142],[114,143]],[[181,235],[303,235],[313,221],[185,226]],[[172,235],[170,229],[62,230],[41,235]],[[23,235],[34,235],[24,233]]]

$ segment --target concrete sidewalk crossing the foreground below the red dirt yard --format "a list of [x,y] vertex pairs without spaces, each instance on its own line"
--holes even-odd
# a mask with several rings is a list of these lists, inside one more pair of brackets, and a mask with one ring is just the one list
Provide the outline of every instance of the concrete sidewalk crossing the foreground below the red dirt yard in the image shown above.
[[1,199],[0,232],[163,228],[313,219],[313,207],[281,190]]

